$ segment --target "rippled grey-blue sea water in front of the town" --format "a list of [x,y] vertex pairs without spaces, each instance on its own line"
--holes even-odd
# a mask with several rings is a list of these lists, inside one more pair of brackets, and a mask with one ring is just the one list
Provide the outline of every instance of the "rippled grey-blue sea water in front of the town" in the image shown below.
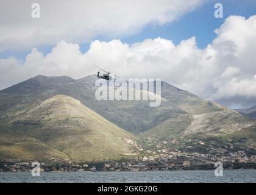
[[148,172],[0,172],[0,182],[256,182],[256,169],[214,171]]

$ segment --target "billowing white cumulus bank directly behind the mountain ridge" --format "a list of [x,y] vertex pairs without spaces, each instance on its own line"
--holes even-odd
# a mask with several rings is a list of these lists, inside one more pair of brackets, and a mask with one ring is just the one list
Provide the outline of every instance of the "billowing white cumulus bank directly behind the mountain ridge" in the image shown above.
[[163,38],[132,45],[96,40],[85,53],[78,44],[60,41],[45,56],[32,49],[24,63],[0,60],[0,87],[37,74],[77,79],[95,74],[93,65],[99,65],[125,78],[161,78],[230,107],[250,106],[256,104],[255,24],[256,16],[230,16],[205,49],[197,48],[194,37],[178,45]]

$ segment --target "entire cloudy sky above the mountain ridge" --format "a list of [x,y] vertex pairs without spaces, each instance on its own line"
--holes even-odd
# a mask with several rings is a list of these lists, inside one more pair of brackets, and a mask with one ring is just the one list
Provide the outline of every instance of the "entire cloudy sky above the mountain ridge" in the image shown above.
[[[0,0],[0,89],[38,74],[160,78],[230,108],[256,105],[256,1]],[[215,4],[223,18],[215,18]]]

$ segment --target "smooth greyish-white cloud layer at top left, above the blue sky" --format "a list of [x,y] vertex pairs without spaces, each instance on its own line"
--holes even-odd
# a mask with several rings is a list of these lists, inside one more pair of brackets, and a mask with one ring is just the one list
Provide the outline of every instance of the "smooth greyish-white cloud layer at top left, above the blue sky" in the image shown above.
[[[163,25],[202,4],[202,0],[36,1],[41,18],[31,17],[32,0],[0,2],[0,51],[85,43],[98,35],[125,37],[146,24]],[[143,10],[143,11],[141,11]]]

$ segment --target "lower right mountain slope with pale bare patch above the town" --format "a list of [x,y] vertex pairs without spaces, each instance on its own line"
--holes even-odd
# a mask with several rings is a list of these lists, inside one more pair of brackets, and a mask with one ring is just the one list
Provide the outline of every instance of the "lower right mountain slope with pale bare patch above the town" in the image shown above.
[[[217,104],[216,104],[217,105]],[[253,119],[241,115],[229,108],[201,114],[180,115],[159,124],[146,132],[146,135],[158,140],[179,138],[185,135],[230,135],[255,125]]]

